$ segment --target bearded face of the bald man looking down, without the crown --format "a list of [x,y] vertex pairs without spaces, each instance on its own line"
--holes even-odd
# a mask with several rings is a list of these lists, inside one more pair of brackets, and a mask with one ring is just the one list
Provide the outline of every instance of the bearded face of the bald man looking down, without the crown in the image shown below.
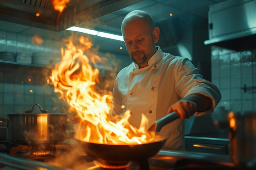
[[147,63],[155,53],[153,30],[138,18],[125,24],[122,33],[132,60],[138,65]]

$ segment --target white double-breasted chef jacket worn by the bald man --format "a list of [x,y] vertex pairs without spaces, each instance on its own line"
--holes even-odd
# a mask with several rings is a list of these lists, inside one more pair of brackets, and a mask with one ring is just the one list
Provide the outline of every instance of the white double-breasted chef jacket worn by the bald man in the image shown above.
[[[218,88],[203,79],[188,59],[163,53],[159,46],[156,47],[157,52],[148,61],[148,66],[139,68],[132,62],[118,73],[113,89],[112,113],[122,115],[130,110],[129,122],[137,128],[143,113],[150,127],[166,115],[172,104],[191,94],[202,94],[212,100],[209,110],[195,113],[195,116],[213,112],[221,99]],[[164,149],[184,150],[183,121],[177,119],[160,132],[169,137]]]

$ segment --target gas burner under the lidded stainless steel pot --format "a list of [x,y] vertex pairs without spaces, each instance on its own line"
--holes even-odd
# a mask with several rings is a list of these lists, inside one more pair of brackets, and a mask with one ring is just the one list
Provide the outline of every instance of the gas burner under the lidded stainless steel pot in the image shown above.
[[13,146],[9,151],[9,155],[24,155],[27,157],[29,153],[29,159],[41,159],[42,157],[54,157],[55,155],[61,155],[63,153],[70,152],[72,147],[68,144],[57,144],[57,145],[20,145]]

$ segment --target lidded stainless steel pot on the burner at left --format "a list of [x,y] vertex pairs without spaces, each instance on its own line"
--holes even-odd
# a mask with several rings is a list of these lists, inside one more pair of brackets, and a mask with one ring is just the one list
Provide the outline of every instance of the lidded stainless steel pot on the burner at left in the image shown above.
[[[32,113],[34,106],[38,106],[41,113]],[[7,140],[11,144],[61,144],[66,138],[66,122],[76,119],[67,119],[64,113],[48,113],[39,104],[34,104],[25,114],[8,113]]]

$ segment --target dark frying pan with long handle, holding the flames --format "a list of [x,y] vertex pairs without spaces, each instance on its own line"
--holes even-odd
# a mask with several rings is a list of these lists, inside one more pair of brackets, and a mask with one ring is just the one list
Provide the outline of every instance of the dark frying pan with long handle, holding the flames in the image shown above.
[[164,146],[168,136],[159,133],[161,128],[179,118],[179,115],[175,112],[172,112],[161,119],[155,121],[152,127],[149,130],[156,129],[156,134],[161,136],[160,141],[155,141],[146,144],[97,144],[90,143],[85,141],[78,142],[81,144],[83,150],[92,157],[97,158],[98,160],[104,161],[142,161],[153,157],[159,152],[159,150]]

